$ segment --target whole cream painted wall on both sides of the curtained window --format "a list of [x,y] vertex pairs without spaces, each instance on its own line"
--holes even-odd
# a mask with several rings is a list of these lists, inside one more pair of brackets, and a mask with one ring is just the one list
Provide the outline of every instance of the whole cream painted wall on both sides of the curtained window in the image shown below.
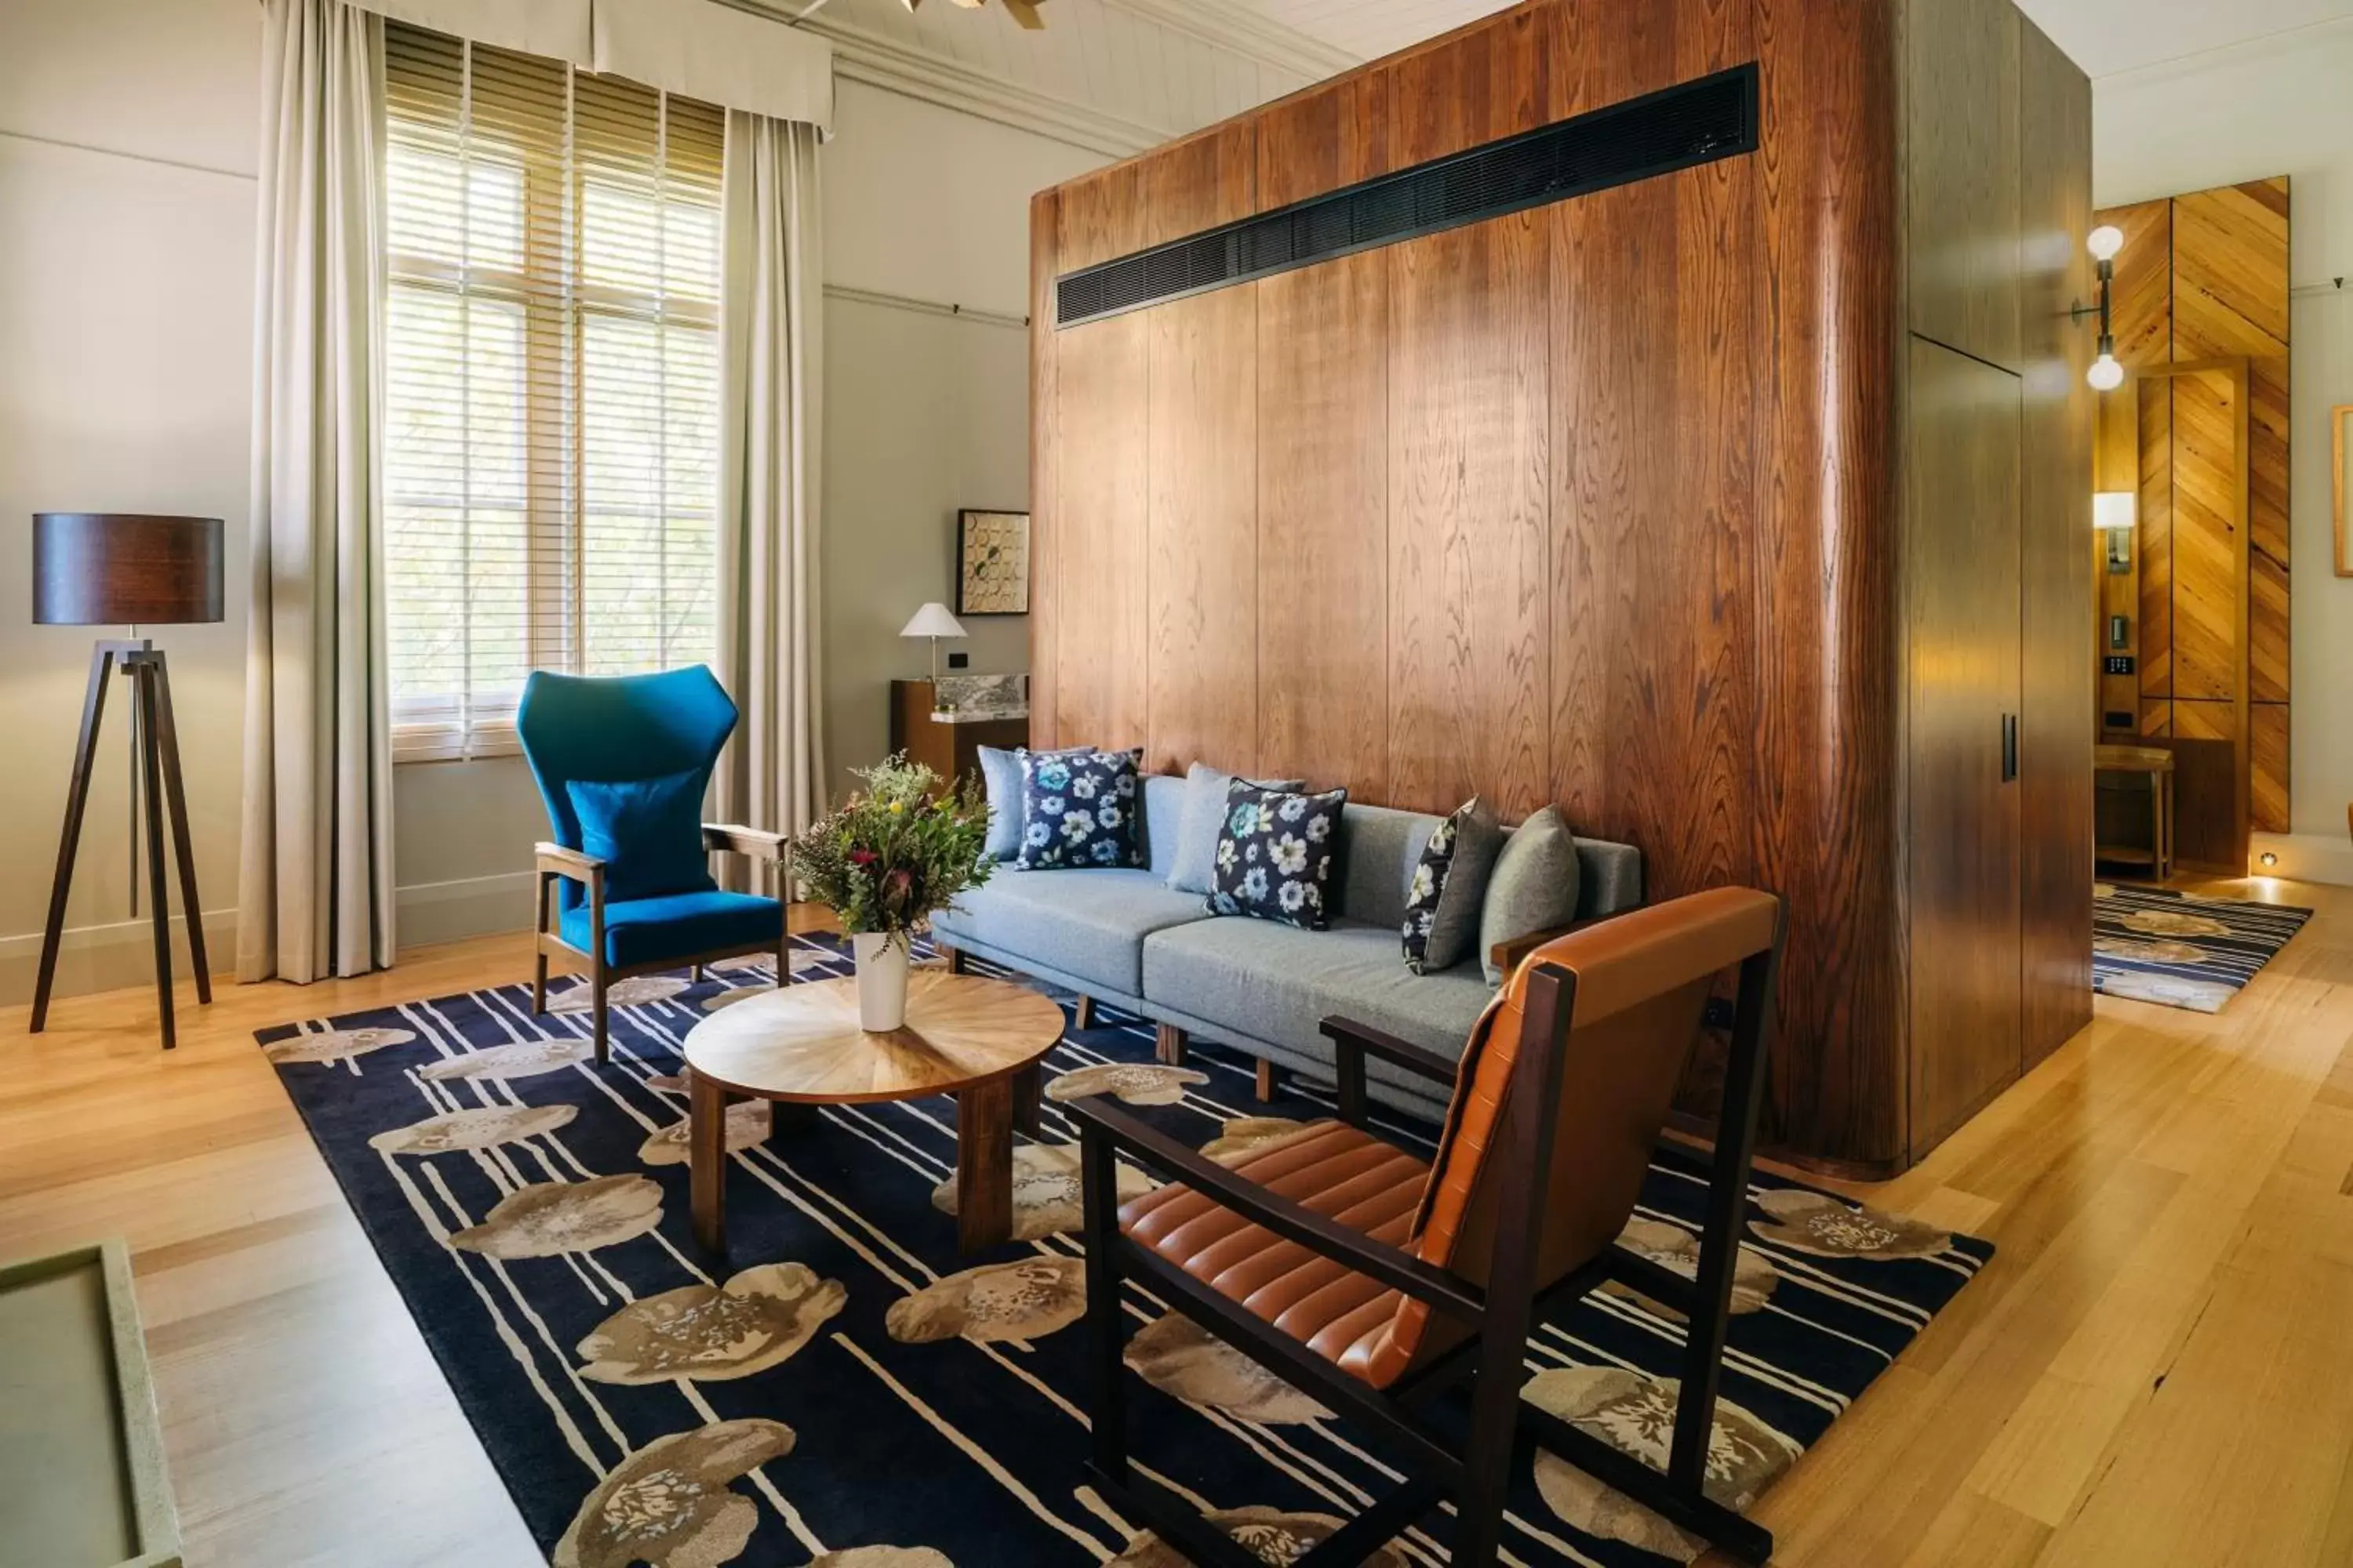
[[[0,5],[0,1004],[31,994],[89,635],[28,625],[28,515],[228,520],[228,621],[165,632],[205,889],[226,959],[242,780],[259,19],[252,0]],[[828,284],[1026,308],[1028,195],[1101,158],[856,82],[824,153]],[[21,242],[47,235],[40,244]],[[899,625],[948,599],[958,505],[1028,503],[1016,327],[826,306],[826,741],[880,759]],[[1019,618],[974,623],[1019,670]],[[120,696],[120,693],[118,693]],[[61,992],[134,985],[125,731],[101,757]],[[409,764],[393,790],[402,945],[529,919],[544,818],[520,759]]]

